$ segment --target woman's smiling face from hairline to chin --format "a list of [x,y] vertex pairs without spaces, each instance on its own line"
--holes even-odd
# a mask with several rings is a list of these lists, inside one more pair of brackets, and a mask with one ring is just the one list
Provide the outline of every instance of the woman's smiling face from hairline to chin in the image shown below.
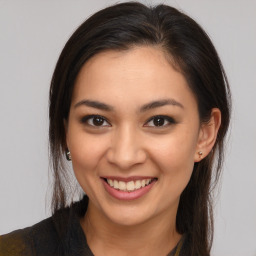
[[136,225],[175,217],[199,137],[195,97],[160,49],[103,52],[81,69],[67,146],[89,209],[102,218]]

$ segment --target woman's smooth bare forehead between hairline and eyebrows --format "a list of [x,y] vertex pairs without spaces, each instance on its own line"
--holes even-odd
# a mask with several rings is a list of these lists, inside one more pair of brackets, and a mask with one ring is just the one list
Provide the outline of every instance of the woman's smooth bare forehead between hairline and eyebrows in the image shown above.
[[72,102],[93,98],[122,106],[166,97],[195,101],[185,77],[164,51],[145,46],[105,51],[89,59],[76,79]]

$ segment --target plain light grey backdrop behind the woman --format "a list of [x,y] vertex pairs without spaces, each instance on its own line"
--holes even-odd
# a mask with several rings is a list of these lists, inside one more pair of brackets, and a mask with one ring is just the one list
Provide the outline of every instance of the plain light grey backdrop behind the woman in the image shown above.
[[[116,2],[0,0],[0,234],[50,215],[47,111],[51,75],[76,27]],[[255,256],[256,1],[162,2],[183,10],[207,31],[233,93],[212,255]]]

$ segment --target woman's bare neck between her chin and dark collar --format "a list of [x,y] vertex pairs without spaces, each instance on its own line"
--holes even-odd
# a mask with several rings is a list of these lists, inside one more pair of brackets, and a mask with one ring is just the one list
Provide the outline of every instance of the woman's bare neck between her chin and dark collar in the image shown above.
[[138,225],[111,222],[92,204],[81,220],[87,243],[95,255],[167,255],[179,242],[176,211],[163,213]]

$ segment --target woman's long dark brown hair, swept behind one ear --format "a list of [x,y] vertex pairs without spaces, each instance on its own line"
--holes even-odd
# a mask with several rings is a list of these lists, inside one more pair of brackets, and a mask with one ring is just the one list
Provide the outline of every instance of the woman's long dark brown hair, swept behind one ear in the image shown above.
[[86,20],[66,43],[50,88],[49,140],[54,176],[53,213],[67,205],[70,186],[65,166],[65,129],[75,79],[88,59],[105,50],[159,46],[187,79],[207,122],[219,108],[222,123],[211,153],[195,163],[177,213],[177,230],[186,233],[191,256],[210,254],[213,237],[212,189],[224,156],[224,137],[230,120],[230,91],[218,54],[204,30],[190,17],[166,5],[147,7],[127,2],[103,9]]

